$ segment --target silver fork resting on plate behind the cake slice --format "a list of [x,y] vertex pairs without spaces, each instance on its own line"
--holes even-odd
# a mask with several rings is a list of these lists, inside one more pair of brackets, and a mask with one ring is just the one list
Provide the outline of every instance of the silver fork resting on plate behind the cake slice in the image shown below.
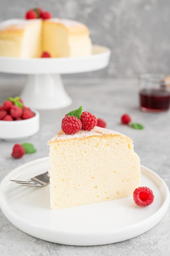
[[21,184],[22,186],[46,186],[49,184],[49,173],[48,171],[46,173],[42,173],[40,175],[37,175],[35,177],[32,177],[30,180],[10,180],[14,181],[15,183]]

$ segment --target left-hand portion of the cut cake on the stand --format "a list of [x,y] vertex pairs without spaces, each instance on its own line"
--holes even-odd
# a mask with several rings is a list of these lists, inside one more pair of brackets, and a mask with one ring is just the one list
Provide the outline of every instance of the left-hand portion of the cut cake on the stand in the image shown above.
[[42,20],[0,22],[0,56],[36,58],[42,54]]

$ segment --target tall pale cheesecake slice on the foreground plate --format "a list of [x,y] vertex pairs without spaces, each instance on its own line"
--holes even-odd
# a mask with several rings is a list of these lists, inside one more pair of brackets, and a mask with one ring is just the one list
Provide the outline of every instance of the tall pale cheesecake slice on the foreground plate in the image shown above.
[[139,156],[125,135],[98,126],[61,130],[48,145],[52,209],[126,198],[139,186]]

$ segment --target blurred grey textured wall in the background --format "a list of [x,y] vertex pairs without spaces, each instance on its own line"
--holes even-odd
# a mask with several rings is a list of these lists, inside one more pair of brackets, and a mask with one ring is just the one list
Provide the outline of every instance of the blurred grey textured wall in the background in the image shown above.
[[169,73],[169,0],[0,0],[0,20],[23,18],[33,7],[85,23],[93,43],[112,50],[104,70],[69,76],[130,78],[143,72]]

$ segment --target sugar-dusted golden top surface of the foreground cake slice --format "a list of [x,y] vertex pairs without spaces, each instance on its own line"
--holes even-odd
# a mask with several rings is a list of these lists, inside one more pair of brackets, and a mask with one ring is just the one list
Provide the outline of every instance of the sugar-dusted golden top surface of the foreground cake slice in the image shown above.
[[86,130],[79,130],[79,132],[72,134],[72,135],[67,135],[65,134],[62,130],[60,130],[60,132],[58,132],[49,142],[48,145],[50,145],[51,143],[55,142],[55,141],[66,141],[68,139],[83,139],[85,137],[92,137],[92,136],[106,136],[106,135],[116,135],[119,137],[124,137],[125,139],[129,139],[131,141],[131,139],[129,137],[127,137],[126,135],[123,135],[119,132],[115,132],[113,130],[109,130],[106,128],[101,128],[99,126],[95,126],[95,128],[93,128],[90,131],[86,131]]

